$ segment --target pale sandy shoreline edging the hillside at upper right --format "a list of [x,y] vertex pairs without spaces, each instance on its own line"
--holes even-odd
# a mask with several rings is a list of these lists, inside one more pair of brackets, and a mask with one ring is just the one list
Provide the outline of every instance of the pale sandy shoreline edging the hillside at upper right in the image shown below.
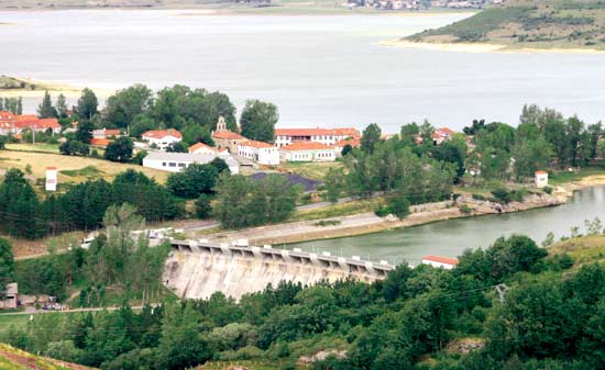
[[605,51],[594,48],[531,48],[512,47],[501,44],[471,44],[471,43],[416,43],[406,40],[391,40],[378,43],[382,46],[420,48],[427,51],[459,52],[459,53],[559,53],[559,54],[602,54]]

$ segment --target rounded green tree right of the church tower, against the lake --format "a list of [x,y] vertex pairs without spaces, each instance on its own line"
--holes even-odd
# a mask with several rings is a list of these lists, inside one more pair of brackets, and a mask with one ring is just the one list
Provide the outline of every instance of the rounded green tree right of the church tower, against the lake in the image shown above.
[[242,135],[253,141],[273,143],[278,120],[279,114],[275,104],[249,100],[240,117]]

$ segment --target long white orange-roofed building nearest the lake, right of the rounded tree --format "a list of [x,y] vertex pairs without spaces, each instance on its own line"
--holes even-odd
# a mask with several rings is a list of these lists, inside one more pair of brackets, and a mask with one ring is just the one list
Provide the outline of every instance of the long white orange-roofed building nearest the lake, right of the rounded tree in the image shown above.
[[360,132],[353,127],[344,128],[275,128],[275,144],[278,147],[298,142],[314,142],[334,145],[344,138],[359,138]]

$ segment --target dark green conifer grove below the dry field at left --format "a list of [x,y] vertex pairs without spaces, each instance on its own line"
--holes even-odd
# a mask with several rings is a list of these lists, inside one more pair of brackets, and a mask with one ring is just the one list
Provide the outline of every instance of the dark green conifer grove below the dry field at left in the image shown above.
[[165,187],[134,170],[122,172],[112,182],[87,181],[41,200],[24,173],[10,169],[0,184],[0,228],[24,238],[95,229],[110,205],[122,203],[133,204],[148,221],[173,220],[180,212]]

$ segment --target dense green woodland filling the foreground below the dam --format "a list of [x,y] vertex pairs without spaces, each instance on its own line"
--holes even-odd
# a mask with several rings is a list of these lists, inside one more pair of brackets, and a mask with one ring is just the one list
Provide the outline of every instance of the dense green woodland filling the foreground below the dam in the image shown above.
[[314,370],[601,369],[605,268],[569,270],[569,256],[546,255],[528,237],[503,237],[465,251],[454,270],[404,264],[373,284],[280,283],[240,302],[216,293],[142,311],[46,314],[0,340],[101,369],[250,358],[293,368],[319,350],[345,356]]

